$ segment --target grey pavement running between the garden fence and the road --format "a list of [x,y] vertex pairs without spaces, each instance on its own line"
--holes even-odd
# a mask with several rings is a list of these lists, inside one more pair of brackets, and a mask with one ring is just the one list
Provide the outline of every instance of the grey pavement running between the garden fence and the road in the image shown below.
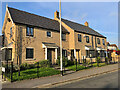
[[91,69],[81,70],[77,72],[70,72],[61,75],[54,75],[49,77],[41,77],[36,79],[22,80],[16,82],[3,83],[2,88],[47,88],[52,85],[63,84],[78,79],[84,79],[87,77],[108,73],[118,70],[118,64],[107,65],[103,67],[95,67]]

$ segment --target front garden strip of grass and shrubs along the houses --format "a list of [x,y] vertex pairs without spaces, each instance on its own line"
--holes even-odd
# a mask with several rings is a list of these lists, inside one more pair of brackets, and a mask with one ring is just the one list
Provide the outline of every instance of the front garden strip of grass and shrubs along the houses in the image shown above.
[[[102,62],[101,58],[97,57],[95,63],[87,62],[85,59],[82,64],[78,63],[77,60],[71,61],[63,57],[63,67],[73,71],[101,67],[109,64],[110,60],[107,57],[105,58],[105,62]],[[60,67],[60,57],[58,57],[55,65],[51,65],[49,60],[42,60],[33,64],[23,63],[20,66],[13,65],[13,63],[3,64],[3,67],[6,68],[4,76],[11,82],[60,74],[60,70],[55,69],[55,66]]]

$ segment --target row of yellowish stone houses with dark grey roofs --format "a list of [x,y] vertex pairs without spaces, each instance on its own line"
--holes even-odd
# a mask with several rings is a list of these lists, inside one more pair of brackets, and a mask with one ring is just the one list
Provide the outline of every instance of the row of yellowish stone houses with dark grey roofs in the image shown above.
[[[50,19],[6,7],[2,34],[3,60],[56,63],[60,52],[59,12]],[[95,60],[107,55],[106,37],[90,28],[88,22],[82,25],[62,18],[62,46],[63,56],[69,60],[82,62],[83,58]]]

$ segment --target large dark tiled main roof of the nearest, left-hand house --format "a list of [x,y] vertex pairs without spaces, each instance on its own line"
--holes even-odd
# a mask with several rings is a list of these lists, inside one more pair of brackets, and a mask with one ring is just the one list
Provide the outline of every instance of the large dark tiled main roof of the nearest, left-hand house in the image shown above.
[[[58,32],[60,31],[59,22],[56,20],[31,14],[11,7],[8,7],[8,10],[14,23],[36,26]],[[69,33],[64,27],[62,27],[62,31],[63,33]]]

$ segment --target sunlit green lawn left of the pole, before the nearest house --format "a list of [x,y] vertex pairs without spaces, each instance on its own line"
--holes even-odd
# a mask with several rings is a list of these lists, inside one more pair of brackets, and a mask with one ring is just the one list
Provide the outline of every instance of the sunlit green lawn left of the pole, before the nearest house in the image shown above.
[[[45,77],[45,76],[52,76],[52,75],[56,75],[56,74],[60,74],[60,71],[55,70],[53,68],[39,68],[39,77]],[[27,70],[23,70],[20,71],[20,76],[18,77],[18,72],[14,72],[13,73],[13,81],[17,81],[17,80],[24,80],[24,79],[33,79],[33,78],[37,78],[37,68],[34,69],[27,69]]]

